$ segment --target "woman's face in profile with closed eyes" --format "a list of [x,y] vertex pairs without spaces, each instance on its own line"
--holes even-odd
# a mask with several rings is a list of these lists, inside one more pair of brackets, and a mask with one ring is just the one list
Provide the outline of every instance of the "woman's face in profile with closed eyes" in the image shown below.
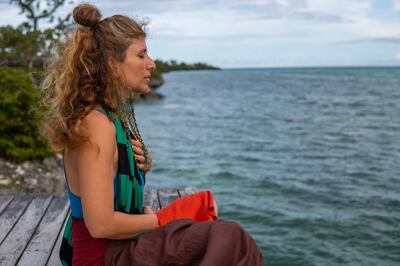
[[150,74],[156,65],[147,54],[144,38],[132,41],[132,44],[126,51],[124,61],[119,63],[118,66],[119,72],[132,91],[138,93],[150,92]]

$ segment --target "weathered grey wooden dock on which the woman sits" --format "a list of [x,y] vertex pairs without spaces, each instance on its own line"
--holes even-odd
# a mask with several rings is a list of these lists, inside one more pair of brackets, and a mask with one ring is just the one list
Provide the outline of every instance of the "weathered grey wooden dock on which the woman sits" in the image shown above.
[[[145,190],[144,205],[157,211],[197,191]],[[0,265],[61,265],[58,252],[69,212],[67,196],[0,196]]]

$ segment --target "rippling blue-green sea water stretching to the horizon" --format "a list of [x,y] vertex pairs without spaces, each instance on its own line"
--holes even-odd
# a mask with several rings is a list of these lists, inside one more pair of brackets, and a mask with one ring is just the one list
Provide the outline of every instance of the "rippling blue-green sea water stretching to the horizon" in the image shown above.
[[149,188],[214,192],[266,265],[398,265],[400,69],[173,72],[139,103]]

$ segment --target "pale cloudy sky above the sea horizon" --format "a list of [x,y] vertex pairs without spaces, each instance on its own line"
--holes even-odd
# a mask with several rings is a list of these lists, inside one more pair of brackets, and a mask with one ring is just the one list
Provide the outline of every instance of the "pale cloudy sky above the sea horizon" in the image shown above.
[[[400,66],[400,0],[88,2],[104,17],[148,20],[153,58],[222,68]],[[24,20],[17,6],[0,0],[0,25]]]

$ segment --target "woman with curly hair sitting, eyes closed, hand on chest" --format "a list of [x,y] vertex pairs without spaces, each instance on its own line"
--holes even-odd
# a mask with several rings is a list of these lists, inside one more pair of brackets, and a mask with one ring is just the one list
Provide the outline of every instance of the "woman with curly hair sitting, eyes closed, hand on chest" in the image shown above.
[[[78,28],[60,45],[49,68],[43,98],[47,116],[42,133],[53,149],[63,154],[71,203],[60,251],[63,264],[124,265],[152,259],[146,265],[163,265],[172,261],[171,253],[164,249],[167,241],[183,243],[181,240],[193,238],[195,231],[205,230],[198,238],[207,244],[211,228],[218,236],[228,232],[228,227],[239,232],[237,238],[248,237],[252,259],[259,262],[261,255],[254,241],[240,226],[222,220],[205,222],[217,219],[208,191],[184,197],[157,213],[143,207],[145,173],[151,168],[152,157],[127,103],[132,93],[150,90],[155,64],[147,53],[146,33],[143,25],[127,16],[101,20],[98,9],[88,4],[78,5],[73,18]],[[221,226],[224,230],[217,229]],[[155,250],[157,246],[163,248]],[[215,261],[216,254],[205,251],[207,245],[197,243],[193,254],[189,252],[193,247],[176,247],[172,257],[187,261],[182,265]],[[140,250],[153,253],[139,254]],[[199,259],[199,252],[208,254],[206,260]],[[181,257],[183,253],[186,258]],[[168,258],[163,257],[166,254]],[[246,256],[238,259],[248,262]]]

